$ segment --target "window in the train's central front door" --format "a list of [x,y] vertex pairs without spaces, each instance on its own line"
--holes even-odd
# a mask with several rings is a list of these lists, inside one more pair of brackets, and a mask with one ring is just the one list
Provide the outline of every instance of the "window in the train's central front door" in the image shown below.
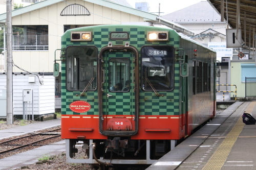
[[111,58],[109,60],[109,90],[130,91],[130,59]]

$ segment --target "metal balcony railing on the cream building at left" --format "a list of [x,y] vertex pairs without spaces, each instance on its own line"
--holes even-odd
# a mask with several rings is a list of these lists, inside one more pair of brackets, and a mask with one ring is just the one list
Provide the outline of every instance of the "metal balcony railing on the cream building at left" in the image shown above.
[[48,35],[13,36],[12,50],[48,50]]

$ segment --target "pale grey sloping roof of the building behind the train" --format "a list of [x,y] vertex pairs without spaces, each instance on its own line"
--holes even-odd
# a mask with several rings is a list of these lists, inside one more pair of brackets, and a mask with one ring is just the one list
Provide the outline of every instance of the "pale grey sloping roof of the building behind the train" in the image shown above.
[[220,22],[221,16],[207,1],[162,16],[173,22]]

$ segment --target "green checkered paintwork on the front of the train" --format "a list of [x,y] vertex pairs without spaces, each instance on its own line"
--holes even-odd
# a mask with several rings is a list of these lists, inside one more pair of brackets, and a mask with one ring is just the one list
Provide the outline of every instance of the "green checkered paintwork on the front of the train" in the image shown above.
[[[71,31],[92,31],[92,41],[71,42]],[[127,40],[111,40],[109,35],[114,31],[128,32],[130,37]],[[179,35],[169,30],[169,41],[147,41],[146,32],[148,31],[166,31],[163,28],[145,27],[145,26],[122,26],[122,25],[108,25],[108,26],[94,26],[77,28],[66,31],[61,37],[61,47],[66,48],[69,45],[95,45],[100,52],[101,48],[112,42],[113,45],[124,45],[129,42],[131,46],[137,48],[139,55],[143,45],[172,45],[179,48]],[[132,60],[132,59],[131,59]],[[105,63],[103,64],[105,67]],[[132,69],[131,69],[132,70]],[[108,71],[108,69],[106,69]],[[106,72],[106,75],[108,72]],[[173,91],[158,92],[164,96],[156,96],[154,91],[142,91],[139,94],[139,114],[140,115],[179,115],[180,114],[180,64],[175,63],[175,88]],[[132,75],[132,72],[131,72]],[[132,80],[132,79],[131,79]],[[113,100],[107,103],[106,101],[106,83],[103,86],[103,112],[105,114],[126,115],[131,114],[134,106],[131,106],[131,101],[134,104],[134,94],[117,92],[112,96]],[[80,96],[81,92],[68,91],[66,89],[66,64],[61,63],[61,114],[76,114],[76,115],[98,115],[98,90],[87,91],[86,95]],[[76,96],[78,94],[78,96]],[[75,113],[69,109],[69,105],[77,100],[87,101],[91,105],[91,109],[85,113]],[[108,108],[105,104],[108,104]],[[108,109],[108,110],[107,110]]]

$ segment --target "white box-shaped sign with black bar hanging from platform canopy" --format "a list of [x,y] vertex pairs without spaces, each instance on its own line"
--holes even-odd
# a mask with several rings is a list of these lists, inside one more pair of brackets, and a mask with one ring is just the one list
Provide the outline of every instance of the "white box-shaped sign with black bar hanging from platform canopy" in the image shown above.
[[226,43],[227,48],[242,47],[242,33],[241,29],[226,29]]

